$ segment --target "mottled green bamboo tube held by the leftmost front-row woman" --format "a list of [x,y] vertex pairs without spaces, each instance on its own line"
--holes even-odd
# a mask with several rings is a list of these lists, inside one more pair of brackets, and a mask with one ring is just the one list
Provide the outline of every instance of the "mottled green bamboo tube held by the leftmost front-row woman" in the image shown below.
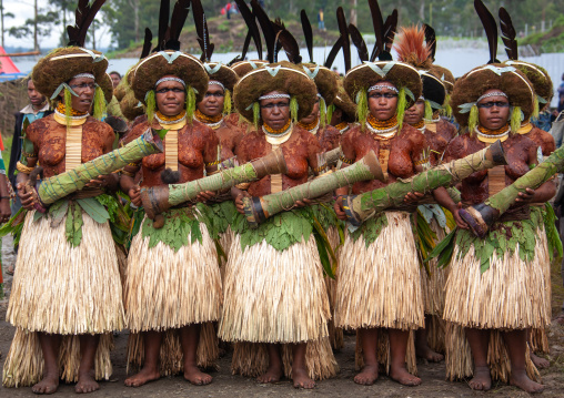
[[43,204],[54,203],[73,192],[82,190],[90,180],[95,180],[99,175],[110,174],[128,163],[138,162],[144,156],[162,151],[162,141],[159,134],[148,129],[143,135],[123,147],[82,163],[66,173],[44,178],[37,190],[39,198]]

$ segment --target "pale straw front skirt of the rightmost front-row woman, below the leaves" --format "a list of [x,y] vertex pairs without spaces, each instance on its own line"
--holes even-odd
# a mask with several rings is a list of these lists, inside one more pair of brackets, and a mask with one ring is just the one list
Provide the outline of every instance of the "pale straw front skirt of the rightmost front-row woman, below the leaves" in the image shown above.
[[489,329],[523,329],[544,327],[550,323],[545,294],[543,247],[535,245],[535,258],[524,262],[518,244],[513,255],[500,259],[495,252],[490,269],[480,271],[481,259],[474,246],[461,259],[454,248],[446,282],[444,319],[465,327]]

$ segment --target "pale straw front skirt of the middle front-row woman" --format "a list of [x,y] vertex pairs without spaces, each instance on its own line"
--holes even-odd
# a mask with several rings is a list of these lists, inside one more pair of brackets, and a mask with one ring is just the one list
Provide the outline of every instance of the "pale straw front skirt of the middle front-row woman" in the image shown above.
[[328,336],[331,313],[313,237],[283,252],[265,241],[242,252],[235,235],[224,297],[222,340],[301,343]]

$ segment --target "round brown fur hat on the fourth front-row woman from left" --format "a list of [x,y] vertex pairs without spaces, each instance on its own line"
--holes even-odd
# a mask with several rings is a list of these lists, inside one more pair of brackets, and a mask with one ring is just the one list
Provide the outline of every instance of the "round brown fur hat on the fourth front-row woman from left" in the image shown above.
[[394,84],[397,90],[404,88],[413,93],[413,98],[406,95],[406,109],[421,96],[423,83],[417,70],[406,63],[394,61],[365,62],[354,67],[344,76],[344,89],[351,99],[356,100],[356,94],[361,90],[367,90],[383,81]]

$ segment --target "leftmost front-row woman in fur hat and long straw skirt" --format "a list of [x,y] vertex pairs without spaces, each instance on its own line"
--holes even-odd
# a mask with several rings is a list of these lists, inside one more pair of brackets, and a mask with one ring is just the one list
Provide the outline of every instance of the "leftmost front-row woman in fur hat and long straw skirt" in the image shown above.
[[68,47],[33,68],[37,90],[57,108],[27,129],[32,151],[23,154],[27,165],[18,165],[18,195],[28,215],[7,314],[17,331],[4,386],[36,384],[33,392],[52,394],[62,378],[78,381],[77,392],[90,392],[99,388],[94,379],[111,375],[111,334],[123,327],[123,307],[110,225],[99,215],[113,178],[99,176],[48,210],[27,184],[38,164],[51,177],[112,150],[112,129],[95,119],[105,106],[97,82],[107,67],[101,53]]

